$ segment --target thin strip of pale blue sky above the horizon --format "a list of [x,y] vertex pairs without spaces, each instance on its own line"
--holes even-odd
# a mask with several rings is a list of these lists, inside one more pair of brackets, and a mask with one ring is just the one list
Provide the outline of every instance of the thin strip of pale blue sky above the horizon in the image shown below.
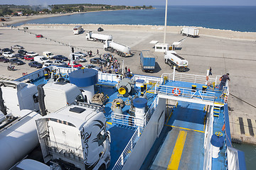
[[[51,4],[109,4],[125,6],[161,6],[165,0],[0,0],[0,4],[51,5]],[[255,0],[169,0],[168,5],[187,6],[256,6]]]

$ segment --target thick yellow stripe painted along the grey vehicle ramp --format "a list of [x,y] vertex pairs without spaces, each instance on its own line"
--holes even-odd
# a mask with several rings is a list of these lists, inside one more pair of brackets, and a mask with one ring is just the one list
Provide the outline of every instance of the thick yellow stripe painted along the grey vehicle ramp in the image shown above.
[[186,140],[186,135],[188,132],[181,130],[178,133],[178,138],[176,140],[176,144],[174,146],[174,151],[171,154],[171,159],[169,161],[167,170],[172,169],[178,169],[179,162],[181,161],[181,154],[183,152],[183,147]]

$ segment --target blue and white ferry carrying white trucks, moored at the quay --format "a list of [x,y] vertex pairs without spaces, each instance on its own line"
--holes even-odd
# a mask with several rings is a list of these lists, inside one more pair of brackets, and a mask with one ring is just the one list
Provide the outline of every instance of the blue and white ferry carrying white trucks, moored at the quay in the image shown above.
[[[46,169],[246,169],[244,153],[232,147],[230,89],[228,83],[222,91],[215,86],[220,77],[174,69],[161,77],[123,78],[95,69],[47,68],[48,72],[40,69],[16,81],[2,81],[0,100],[1,111],[11,112],[14,104],[8,94],[13,84],[37,86],[32,98],[40,111],[34,109],[37,135],[32,138],[40,143],[39,163]],[[11,85],[6,89],[4,84]],[[9,105],[4,102],[8,98]],[[1,126],[1,141],[6,140],[6,130]],[[12,145],[18,145],[18,139]],[[20,168],[29,152],[4,169]],[[11,157],[1,152],[4,156]],[[36,162],[26,162],[36,167]]]

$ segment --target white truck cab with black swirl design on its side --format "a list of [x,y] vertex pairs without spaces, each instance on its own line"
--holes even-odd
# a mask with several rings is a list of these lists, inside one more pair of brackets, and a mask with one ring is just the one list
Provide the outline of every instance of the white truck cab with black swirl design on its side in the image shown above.
[[101,107],[66,106],[36,120],[44,162],[65,169],[107,169],[110,132]]

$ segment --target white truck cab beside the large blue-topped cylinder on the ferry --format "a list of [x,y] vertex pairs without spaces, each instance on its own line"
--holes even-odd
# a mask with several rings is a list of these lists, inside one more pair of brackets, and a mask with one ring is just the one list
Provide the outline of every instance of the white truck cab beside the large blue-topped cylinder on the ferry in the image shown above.
[[78,86],[63,81],[63,77],[60,77],[54,82],[38,85],[41,115],[53,113],[69,104],[75,104],[76,101],[84,101],[84,96]]

